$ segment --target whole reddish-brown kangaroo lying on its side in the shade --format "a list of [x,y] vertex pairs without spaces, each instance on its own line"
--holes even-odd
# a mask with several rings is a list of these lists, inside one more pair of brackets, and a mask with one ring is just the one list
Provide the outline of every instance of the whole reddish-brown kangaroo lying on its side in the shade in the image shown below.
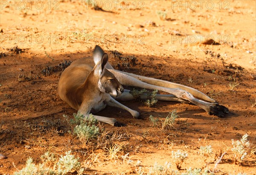
[[[228,113],[225,106],[214,103],[215,100],[191,87],[113,69],[108,63],[108,55],[99,46],[94,49],[93,59],[87,57],[76,60],[64,70],[58,83],[58,95],[84,115],[95,114],[109,105],[125,109],[134,118],[138,118],[139,112],[116,101],[134,99],[121,84],[168,92],[171,95],[157,95],[156,99],[193,103],[218,117],[224,117]],[[198,100],[193,95],[209,102]],[[141,98],[145,99],[147,95],[144,94]],[[94,117],[113,126],[123,126],[114,118],[98,115]]]

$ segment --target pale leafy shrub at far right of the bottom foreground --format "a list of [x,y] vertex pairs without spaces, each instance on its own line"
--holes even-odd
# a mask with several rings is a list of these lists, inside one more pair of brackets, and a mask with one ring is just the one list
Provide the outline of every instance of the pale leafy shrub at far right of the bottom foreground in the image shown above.
[[233,153],[232,157],[234,164],[241,165],[247,155],[247,149],[250,146],[250,142],[247,137],[248,134],[245,134],[242,136],[240,141],[234,141],[234,139],[232,139],[233,148],[231,148],[231,151]]

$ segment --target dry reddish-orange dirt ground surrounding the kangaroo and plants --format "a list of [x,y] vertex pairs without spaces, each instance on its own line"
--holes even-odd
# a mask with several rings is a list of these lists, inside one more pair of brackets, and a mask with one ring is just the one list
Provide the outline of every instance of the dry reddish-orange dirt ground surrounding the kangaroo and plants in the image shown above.
[[[140,167],[148,172],[155,162],[170,162],[175,171],[171,152],[178,149],[188,153],[180,172],[205,166],[212,171],[215,152],[222,149],[227,153],[216,174],[256,174],[255,1],[98,1],[103,10],[86,6],[84,0],[0,3],[0,154],[7,156],[0,160],[0,174],[22,169],[29,157],[40,163],[47,150],[57,155],[71,150],[92,174],[135,174]],[[162,11],[162,19],[157,11]],[[211,36],[220,44],[195,43],[195,35]],[[102,149],[94,150],[97,161],[89,161],[92,147],[68,133],[63,118],[76,111],[58,97],[61,69],[55,67],[48,76],[42,70],[89,57],[96,44],[116,69],[192,86],[230,113],[218,118],[190,104],[159,101],[148,108],[139,101],[122,102],[140,112],[143,119],[137,120],[107,107],[99,115],[127,126],[103,127],[122,134],[116,143],[125,145],[121,155],[129,153],[133,162],[122,161],[121,155],[110,160]],[[111,51],[135,56],[137,62],[122,66]],[[235,76],[239,85],[231,91]],[[152,126],[150,115],[163,120],[174,109],[180,115],[174,128]],[[244,163],[235,165],[231,139],[246,133],[250,150]],[[212,145],[213,154],[204,162],[198,151],[206,145]]]

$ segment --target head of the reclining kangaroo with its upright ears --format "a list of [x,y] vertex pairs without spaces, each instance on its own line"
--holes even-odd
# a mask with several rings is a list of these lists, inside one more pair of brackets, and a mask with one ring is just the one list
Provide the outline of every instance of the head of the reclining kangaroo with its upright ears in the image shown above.
[[116,77],[105,68],[108,63],[108,54],[104,53],[99,46],[96,46],[93,52],[93,60],[96,64],[93,68],[93,74],[97,77],[99,90],[113,96],[122,95],[124,88]]

